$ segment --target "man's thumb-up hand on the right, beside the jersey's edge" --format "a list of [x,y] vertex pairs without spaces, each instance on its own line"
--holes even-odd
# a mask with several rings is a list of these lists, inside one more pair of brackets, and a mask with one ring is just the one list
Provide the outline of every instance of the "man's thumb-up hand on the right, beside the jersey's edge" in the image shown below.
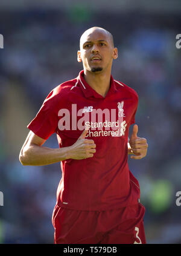
[[130,137],[130,147],[132,149],[132,154],[135,156],[131,156],[132,159],[142,159],[147,155],[148,144],[145,138],[141,138],[137,136],[138,133],[138,125],[133,126],[133,133]]

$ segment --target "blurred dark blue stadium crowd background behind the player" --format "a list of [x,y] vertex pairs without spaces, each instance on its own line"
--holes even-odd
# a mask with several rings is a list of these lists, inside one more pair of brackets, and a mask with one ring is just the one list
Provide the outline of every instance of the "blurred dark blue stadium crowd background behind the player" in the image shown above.
[[[139,95],[138,136],[149,147],[129,165],[141,186],[147,243],[181,243],[180,13],[179,0],[1,0],[0,243],[54,243],[60,164],[22,166],[19,151],[49,91],[83,69],[79,38],[92,26],[113,34],[119,57],[112,75]],[[56,136],[45,145],[57,148]]]

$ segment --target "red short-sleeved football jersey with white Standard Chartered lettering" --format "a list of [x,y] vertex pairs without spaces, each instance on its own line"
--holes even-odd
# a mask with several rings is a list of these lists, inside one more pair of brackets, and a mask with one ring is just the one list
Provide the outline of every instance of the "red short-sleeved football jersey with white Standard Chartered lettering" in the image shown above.
[[138,203],[139,183],[127,163],[129,126],[137,107],[135,90],[111,76],[103,97],[86,83],[83,70],[48,94],[27,127],[42,139],[57,133],[62,148],[73,145],[86,125],[86,139],[96,144],[94,157],[61,162],[59,206],[104,211]]

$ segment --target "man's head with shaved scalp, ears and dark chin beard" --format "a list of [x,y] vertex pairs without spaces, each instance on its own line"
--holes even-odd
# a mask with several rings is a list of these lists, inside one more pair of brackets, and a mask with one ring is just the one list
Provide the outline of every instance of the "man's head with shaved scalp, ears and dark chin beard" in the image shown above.
[[84,70],[91,72],[106,71],[112,67],[112,60],[118,57],[109,33],[101,29],[90,29],[81,36],[78,62],[83,62]]

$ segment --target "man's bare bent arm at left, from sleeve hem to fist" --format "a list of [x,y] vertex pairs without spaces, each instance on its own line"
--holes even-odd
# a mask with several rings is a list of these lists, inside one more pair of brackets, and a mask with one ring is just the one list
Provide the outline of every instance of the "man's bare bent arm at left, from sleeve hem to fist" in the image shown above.
[[22,165],[50,165],[66,159],[86,159],[95,153],[94,140],[84,139],[87,130],[84,130],[72,146],[65,148],[47,148],[42,146],[46,140],[32,131],[27,136],[19,154]]

